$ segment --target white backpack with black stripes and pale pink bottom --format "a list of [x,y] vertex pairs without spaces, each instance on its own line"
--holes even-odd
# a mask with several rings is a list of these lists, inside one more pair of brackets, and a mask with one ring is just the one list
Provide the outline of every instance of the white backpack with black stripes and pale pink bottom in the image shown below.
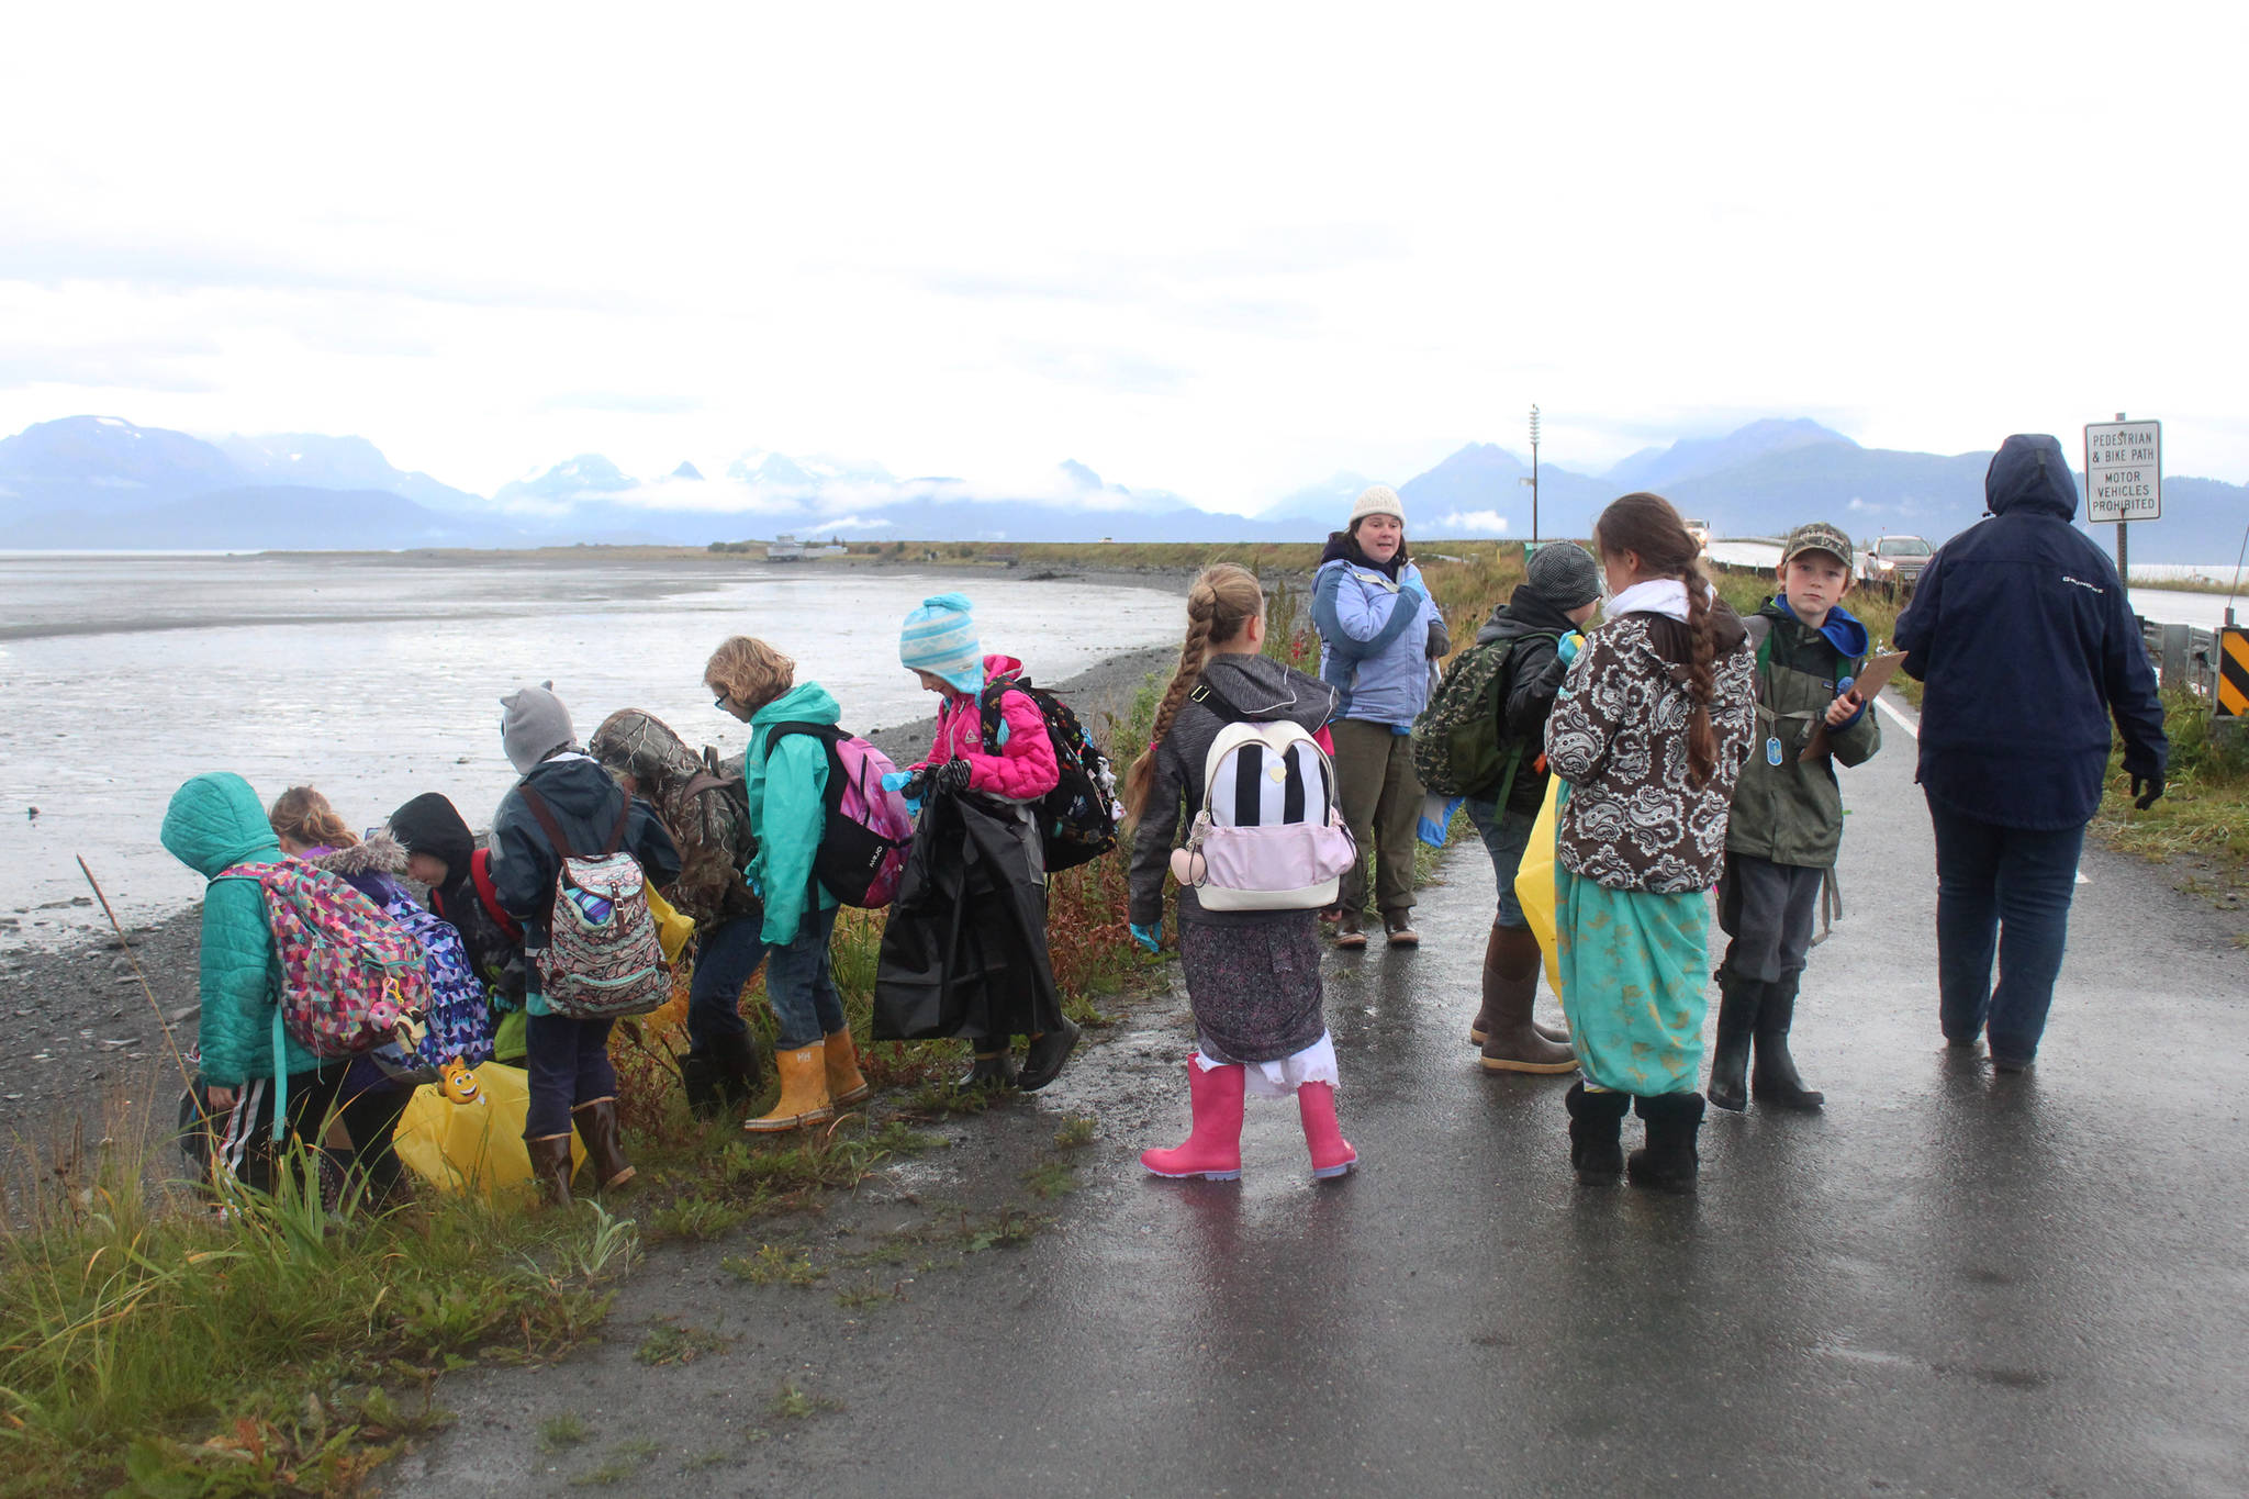
[[1196,701],[1228,721],[1203,755],[1203,809],[1172,874],[1208,910],[1318,910],[1336,903],[1358,845],[1336,807],[1336,766],[1295,721],[1244,721],[1208,688]]

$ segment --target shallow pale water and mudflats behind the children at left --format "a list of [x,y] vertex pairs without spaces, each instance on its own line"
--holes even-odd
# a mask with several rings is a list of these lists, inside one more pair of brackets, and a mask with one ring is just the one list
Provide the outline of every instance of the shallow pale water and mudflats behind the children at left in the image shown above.
[[747,728],[711,706],[702,667],[756,634],[850,728],[924,717],[897,625],[942,589],[967,591],[985,647],[1041,681],[1176,641],[1183,616],[1156,589],[816,564],[0,555],[0,946],[101,919],[72,906],[88,894],[74,854],[128,924],[193,901],[202,881],[157,827],[198,771],[238,771],[265,800],[310,782],[362,827],[443,791],[484,827],[515,780],[499,694],[524,681],[553,679],[580,739],[645,708],[690,746],[738,751]]

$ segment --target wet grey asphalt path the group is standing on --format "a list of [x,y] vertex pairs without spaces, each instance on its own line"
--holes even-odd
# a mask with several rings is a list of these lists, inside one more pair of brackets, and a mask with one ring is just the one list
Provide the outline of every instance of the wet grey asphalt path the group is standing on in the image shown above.
[[[1062,1115],[1098,1115],[1082,1191],[1026,1247],[859,1310],[717,1274],[740,1241],[657,1252],[605,1348],[448,1382],[461,1423],[394,1492],[556,1492],[627,1436],[659,1452],[612,1492],[2249,1492],[2249,953],[2089,852],[2038,1070],[1948,1056],[1927,816],[1885,735],[1846,775],[1849,915],[1799,1009],[1831,1106],[1714,1115],[1696,1198],[1579,1189],[1565,1081],[1473,1068],[1471,843],[1419,953],[1331,960],[1347,1180],[1313,1184],[1293,1106],[1257,1099],[1239,1184],[1142,1178],[1187,1110],[1181,1011],[1140,1011],[803,1229],[819,1254],[990,1205]],[[735,1342],[634,1364],[663,1315]],[[771,1418],[780,1380],[825,1414]],[[533,1443],[560,1409],[596,1432],[582,1456]]]

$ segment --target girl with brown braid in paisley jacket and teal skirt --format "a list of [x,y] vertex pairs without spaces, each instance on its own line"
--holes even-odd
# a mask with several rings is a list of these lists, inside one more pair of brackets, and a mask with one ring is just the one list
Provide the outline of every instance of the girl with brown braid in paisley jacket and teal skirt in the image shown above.
[[[1747,632],[1700,569],[1669,501],[1626,494],[1595,524],[1613,598],[1545,728],[1568,782],[1554,850],[1563,1009],[1583,1081],[1570,1088],[1579,1182],[1691,1191],[1702,1128],[1705,892],[1725,867],[1734,780],[1750,751]],[[1640,1101],[1646,1148],[1619,1133]]]

